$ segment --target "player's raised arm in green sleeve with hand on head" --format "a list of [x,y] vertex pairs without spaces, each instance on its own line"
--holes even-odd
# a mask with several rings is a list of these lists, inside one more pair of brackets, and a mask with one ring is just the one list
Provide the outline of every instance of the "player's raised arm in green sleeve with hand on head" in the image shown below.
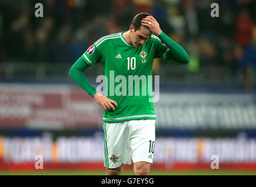
[[[148,23],[151,22],[151,25]],[[180,46],[178,43],[170,39],[160,28],[159,23],[156,21],[153,16],[146,16],[146,18],[143,18],[141,20],[141,24],[148,27],[149,30],[151,30],[152,34],[159,37],[159,39],[164,43],[168,49],[170,50],[170,53],[168,53],[170,58],[177,61],[178,63],[187,64],[189,63],[189,55],[187,52],[183,49],[182,46]]]

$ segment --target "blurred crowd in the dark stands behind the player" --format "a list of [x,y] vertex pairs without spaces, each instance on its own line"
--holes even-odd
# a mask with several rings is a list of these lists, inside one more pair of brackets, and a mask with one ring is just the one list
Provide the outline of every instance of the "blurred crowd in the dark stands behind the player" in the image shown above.
[[[42,2],[43,18],[35,4]],[[219,18],[210,5],[219,4]],[[185,47],[192,72],[211,67],[212,79],[231,68],[245,88],[255,79],[256,1],[253,0],[0,0],[0,63],[73,64],[100,37],[128,30],[133,16],[149,12]]]

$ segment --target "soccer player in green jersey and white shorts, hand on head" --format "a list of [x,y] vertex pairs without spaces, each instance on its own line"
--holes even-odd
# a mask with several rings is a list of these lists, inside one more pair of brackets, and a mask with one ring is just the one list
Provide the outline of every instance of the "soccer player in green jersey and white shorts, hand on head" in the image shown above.
[[[139,90],[132,83],[152,75],[153,59],[159,57],[168,63],[189,63],[186,51],[162,32],[156,19],[148,13],[139,13],[132,19],[128,31],[101,37],[70,69],[70,76],[104,109],[107,175],[120,175],[123,164],[131,164],[131,156],[134,174],[149,175],[156,119],[150,101],[152,82],[139,84]],[[100,62],[107,79],[107,96],[97,92],[83,74],[86,68]],[[145,93],[148,88],[151,92]]]

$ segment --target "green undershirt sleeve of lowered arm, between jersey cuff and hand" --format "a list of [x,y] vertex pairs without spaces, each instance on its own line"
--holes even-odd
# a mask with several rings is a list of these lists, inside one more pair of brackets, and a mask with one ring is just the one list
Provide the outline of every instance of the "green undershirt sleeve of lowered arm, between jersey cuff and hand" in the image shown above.
[[69,75],[84,89],[90,96],[96,93],[96,89],[90,84],[83,71],[88,68],[88,65],[80,57],[76,63],[70,68]]

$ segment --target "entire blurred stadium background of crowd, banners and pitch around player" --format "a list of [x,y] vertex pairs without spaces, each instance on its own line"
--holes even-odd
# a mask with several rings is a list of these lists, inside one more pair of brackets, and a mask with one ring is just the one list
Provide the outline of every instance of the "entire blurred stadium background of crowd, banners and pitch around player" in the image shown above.
[[[219,18],[210,16],[213,2]],[[0,0],[0,174],[105,174],[103,110],[68,72],[139,12],[190,56],[187,65],[153,63],[160,99],[151,174],[256,174],[255,10],[253,0]],[[96,86],[103,65],[85,74]]]

